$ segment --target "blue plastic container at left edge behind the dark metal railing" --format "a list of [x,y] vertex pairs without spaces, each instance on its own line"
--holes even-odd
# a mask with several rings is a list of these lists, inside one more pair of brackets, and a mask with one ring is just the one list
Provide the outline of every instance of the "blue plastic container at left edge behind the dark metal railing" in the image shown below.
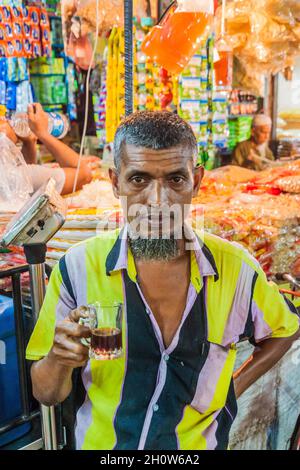
[[[0,427],[21,414],[19,372],[16,351],[14,310],[12,299],[0,295]],[[0,435],[0,446],[23,436],[30,423],[19,425]]]

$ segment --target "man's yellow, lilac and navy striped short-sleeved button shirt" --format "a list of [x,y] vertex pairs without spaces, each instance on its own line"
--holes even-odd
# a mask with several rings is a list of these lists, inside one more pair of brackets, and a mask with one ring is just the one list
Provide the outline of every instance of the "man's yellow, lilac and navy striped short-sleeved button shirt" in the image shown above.
[[74,246],[54,268],[27,359],[48,354],[55,323],[76,306],[125,306],[124,356],[82,370],[78,449],[226,449],[237,413],[236,344],[298,330],[293,306],[242,247],[206,234],[190,253],[186,307],[168,348],[139,287],[126,229]]

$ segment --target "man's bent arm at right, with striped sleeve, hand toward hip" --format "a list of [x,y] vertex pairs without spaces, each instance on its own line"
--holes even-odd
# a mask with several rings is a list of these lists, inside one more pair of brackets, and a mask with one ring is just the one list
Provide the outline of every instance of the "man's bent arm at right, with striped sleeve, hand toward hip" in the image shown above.
[[262,375],[268,372],[300,338],[299,316],[293,304],[268,282],[259,269],[250,308],[255,342],[253,355],[235,372],[234,386],[237,398]]

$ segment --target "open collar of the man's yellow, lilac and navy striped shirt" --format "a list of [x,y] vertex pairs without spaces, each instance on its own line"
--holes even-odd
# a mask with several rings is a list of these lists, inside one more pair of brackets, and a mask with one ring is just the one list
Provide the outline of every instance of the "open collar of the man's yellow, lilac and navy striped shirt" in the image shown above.
[[[191,250],[191,282],[197,292],[203,285],[203,278],[214,276],[219,279],[216,263],[211,251],[204,244],[202,237],[188,228],[189,249]],[[120,231],[118,238],[106,259],[106,274],[126,269],[128,276],[136,282],[137,272],[132,252],[128,246],[128,226]]]

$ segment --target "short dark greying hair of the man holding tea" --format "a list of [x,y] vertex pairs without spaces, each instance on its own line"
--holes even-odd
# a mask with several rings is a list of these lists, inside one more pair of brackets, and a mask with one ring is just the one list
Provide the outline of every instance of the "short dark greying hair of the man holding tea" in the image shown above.
[[114,139],[114,164],[120,170],[124,146],[164,150],[182,146],[191,151],[197,163],[198,144],[191,126],[168,111],[141,111],[128,116],[118,127]]

